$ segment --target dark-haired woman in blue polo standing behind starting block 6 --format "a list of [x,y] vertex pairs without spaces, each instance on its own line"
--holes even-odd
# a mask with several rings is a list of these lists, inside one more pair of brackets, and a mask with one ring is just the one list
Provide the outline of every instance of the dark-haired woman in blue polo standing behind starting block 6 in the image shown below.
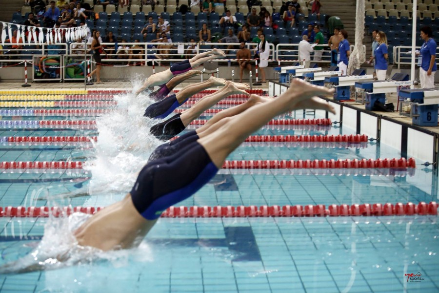
[[431,27],[424,26],[421,28],[421,38],[424,40],[419,52],[421,64],[419,67],[419,80],[422,88],[435,87],[435,73],[438,70],[436,65],[436,42],[432,38],[433,31]]

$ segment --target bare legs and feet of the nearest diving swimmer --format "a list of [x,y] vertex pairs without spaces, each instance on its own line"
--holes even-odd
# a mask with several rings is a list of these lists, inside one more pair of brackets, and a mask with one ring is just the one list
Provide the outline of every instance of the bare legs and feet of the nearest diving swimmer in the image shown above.
[[[198,140],[216,167],[221,168],[226,157],[250,134],[267,124],[273,117],[301,107],[325,108],[335,113],[327,103],[311,99],[317,95],[331,94],[332,89],[295,80],[294,84],[278,98],[255,105],[232,117],[217,131]],[[308,101],[307,101],[308,100]]]

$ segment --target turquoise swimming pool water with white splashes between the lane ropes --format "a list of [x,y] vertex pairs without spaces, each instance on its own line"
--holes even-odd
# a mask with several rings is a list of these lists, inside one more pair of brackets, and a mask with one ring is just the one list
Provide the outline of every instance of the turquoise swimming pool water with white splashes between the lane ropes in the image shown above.
[[[0,161],[63,160],[93,164],[84,169],[15,169],[14,172],[2,169],[0,207],[53,204],[104,207],[120,200],[136,179],[136,171],[160,142],[144,134],[151,121],[134,118],[133,114],[142,111],[141,105],[126,95],[115,99],[119,108],[97,120],[97,144],[2,143]],[[324,116],[319,112],[297,111],[292,118]],[[3,120],[12,119],[24,120],[3,116]],[[44,119],[64,118],[46,116]],[[94,129],[64,128],[4,128],[0,137],[97,134]],[[255,135],[355,133],[355,129],[345,126],[266,126]],[[340,143],[331,147],[325,143],[244,143],[228,160],[399,157],[392,147],[373,142]],[[435,201],[437,191],[422,180],[431,174],[431,167],[421,166],[420,160],[417,163],[414,174],[403,170],[388,173],[381,169],[369,173],[222,169],[195,196],[180,204],[187,207],[329,206]],[[0,264],[33,251],[45,233],[44,226],[53,226],[50,221],[62,220],[0,218]],[[137,249],[101,253],[99,257],[56,270],[0,275],[0,291],[437,292],[437,235],[437,216],[433,215],[161,218]]]

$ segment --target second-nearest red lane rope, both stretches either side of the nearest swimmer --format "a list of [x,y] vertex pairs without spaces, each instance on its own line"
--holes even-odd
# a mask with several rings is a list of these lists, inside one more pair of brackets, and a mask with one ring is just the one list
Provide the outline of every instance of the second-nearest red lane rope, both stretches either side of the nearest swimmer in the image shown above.
[[[85,139],[84,139],[85,141]],[[0,169],[80,169],[83,162],[0,162]],[[415,160],[400,159],[354,159],[354,160],[251,160],[225,161],[223,169],[363,169],[363,168],[415,168]]]

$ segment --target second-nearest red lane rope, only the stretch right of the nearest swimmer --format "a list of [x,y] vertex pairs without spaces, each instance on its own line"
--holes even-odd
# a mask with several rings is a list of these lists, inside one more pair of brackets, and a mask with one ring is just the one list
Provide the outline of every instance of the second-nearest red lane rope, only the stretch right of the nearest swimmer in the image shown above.
[[362,169],[362,168],[415,168],[415,160],[400,159],[346,159],[346,160],[251,160],[225,161],[223,169]]

